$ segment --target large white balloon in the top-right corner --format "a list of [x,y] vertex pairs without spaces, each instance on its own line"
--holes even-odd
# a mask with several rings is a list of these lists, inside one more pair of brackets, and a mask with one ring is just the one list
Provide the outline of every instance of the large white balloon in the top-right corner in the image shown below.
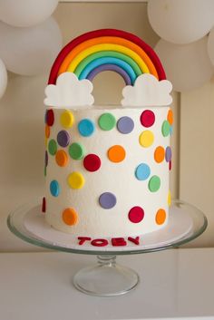
[[213,0],[149,0],[154,31],[173,44],[190,44],[208,34],[214,24]]

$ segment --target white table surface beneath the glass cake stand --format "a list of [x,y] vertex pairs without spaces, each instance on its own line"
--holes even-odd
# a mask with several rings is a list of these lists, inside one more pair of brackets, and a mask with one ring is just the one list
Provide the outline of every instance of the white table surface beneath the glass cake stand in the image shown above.
[[0,319],[214,319],[214,248],[171,249],[117,260],[139,273],[140,285],[124,296],[96,297],[72,284],[73,275],[95,262],[94,256],[0,254]]

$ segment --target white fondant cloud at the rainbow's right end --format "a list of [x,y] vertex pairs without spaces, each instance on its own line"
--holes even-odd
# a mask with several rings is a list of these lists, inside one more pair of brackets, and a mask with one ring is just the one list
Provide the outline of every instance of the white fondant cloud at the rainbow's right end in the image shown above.
[[171,82],[158,79],[149,73],[141,74],[134,85],[127,85],[122,90],[122,106],[161,106],[172,102],[170,92]]

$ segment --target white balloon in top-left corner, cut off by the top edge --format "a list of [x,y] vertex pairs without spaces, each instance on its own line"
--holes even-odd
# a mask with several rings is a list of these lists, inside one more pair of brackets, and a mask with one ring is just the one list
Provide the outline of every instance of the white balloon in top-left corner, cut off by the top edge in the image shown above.
[[41,24],[57,5],[58,0],[0,0],[0,20],[14,26]]

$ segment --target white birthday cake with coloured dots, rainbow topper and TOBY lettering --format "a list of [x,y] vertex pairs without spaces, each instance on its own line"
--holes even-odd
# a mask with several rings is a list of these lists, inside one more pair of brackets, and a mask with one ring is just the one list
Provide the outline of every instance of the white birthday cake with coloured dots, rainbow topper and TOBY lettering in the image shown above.
[[[92,80],[104,71],[122,76],[122,105],[93,105]],[[44,100],[50,226],[80,245],[125,246],[167,225],[171,89],[157,54],[134,34],[102,29],[63,48]]]

